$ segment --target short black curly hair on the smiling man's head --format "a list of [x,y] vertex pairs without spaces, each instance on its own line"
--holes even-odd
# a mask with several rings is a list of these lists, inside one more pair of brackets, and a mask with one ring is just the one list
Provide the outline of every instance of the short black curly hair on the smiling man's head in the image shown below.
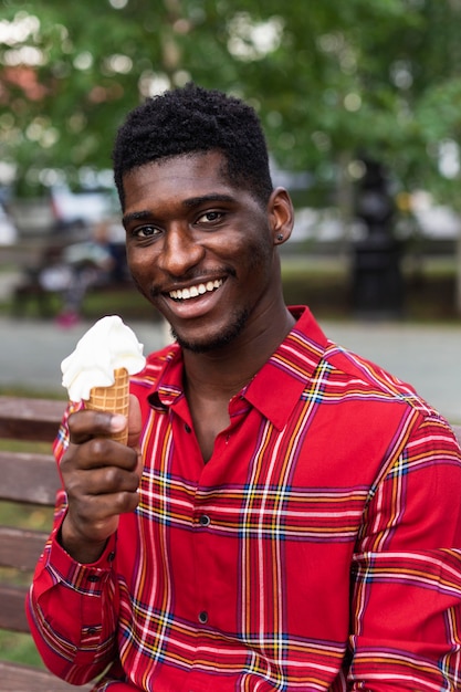
[[118,129],[114,150],[114,179],[122,208],[123,177],[151,161],[219,150],[223,175],[247,189],[263,206],[272,190],[268,146],[254,109],[239,98],[193,83],[147,98]]

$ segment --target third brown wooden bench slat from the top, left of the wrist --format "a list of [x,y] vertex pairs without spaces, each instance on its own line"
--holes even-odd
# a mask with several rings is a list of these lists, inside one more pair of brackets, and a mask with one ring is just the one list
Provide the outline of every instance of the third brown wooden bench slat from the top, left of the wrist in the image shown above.
[[32,572],[46,538],[43,532],[0,526],[0,566]]

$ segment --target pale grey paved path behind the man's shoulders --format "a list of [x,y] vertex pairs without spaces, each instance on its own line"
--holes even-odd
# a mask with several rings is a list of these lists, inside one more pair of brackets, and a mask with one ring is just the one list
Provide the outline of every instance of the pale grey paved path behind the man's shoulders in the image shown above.
[[[61,392],[61,360],[90,323],[62,329],[53,322],[0,317],[0,387]],[[145,353],[161,346],[159,325],[129,323]],[[412,384],[451,422],[461,423],[461,324],[420,326],[406,323],[322,322],[342,346],[378,363]]]

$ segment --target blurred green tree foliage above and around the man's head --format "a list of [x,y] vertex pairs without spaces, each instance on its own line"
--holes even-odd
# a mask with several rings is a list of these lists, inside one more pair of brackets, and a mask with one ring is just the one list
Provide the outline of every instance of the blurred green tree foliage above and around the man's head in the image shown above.
[[0,7],[0,165],[19,181],[108,168],[126,112],[192,78],[250,101],[284,168],[328,184],[366,153],[401,189],[458,198],[460,0]]

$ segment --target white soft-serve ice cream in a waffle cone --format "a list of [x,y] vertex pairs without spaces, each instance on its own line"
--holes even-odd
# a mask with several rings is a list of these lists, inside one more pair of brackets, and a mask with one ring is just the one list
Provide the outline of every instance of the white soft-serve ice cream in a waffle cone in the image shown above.
[[[129,375],[146,364],[143,344],[117,315],[103,317],[86,332],[61,364],[62,384],[71,401],[85,400],[91,409],[127,416]],[[123,431],[116,439],[126,442]]]

